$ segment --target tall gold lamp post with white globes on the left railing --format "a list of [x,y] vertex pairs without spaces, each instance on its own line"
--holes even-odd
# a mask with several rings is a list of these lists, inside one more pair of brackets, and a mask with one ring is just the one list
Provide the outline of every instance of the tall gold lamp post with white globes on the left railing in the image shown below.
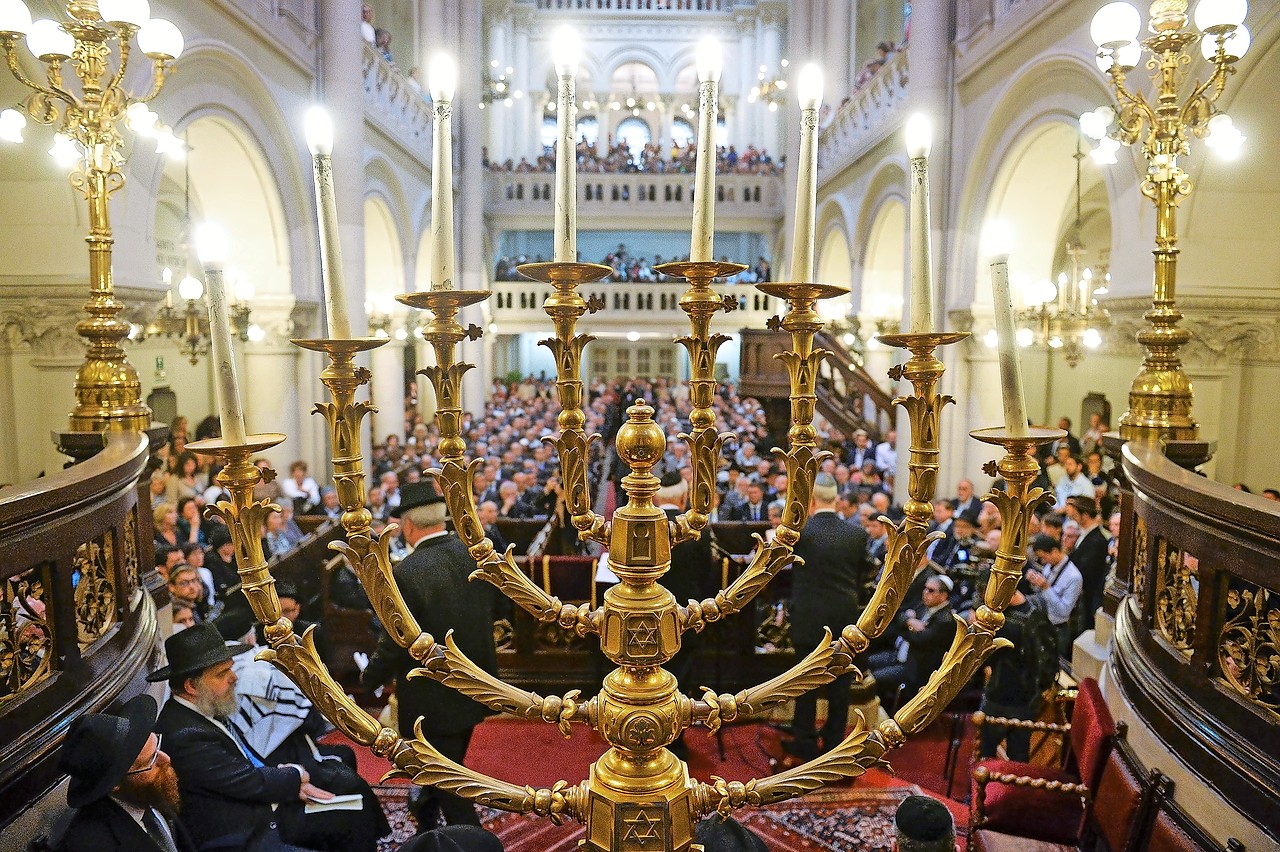
[[[13,75],[31,93],[23,111],[38,124],[56,125],[59,134],[51,154],[67,156],[73,166],[70,184],[88,202],[88,319],[76,326],[87,340],[84,363],[76,374],[76,409],[70,414],[73,432],[101,430],[146,431],[151,409],[142,402],[137,370],[122,348],[129,324],[120,319],[123,304],[115,301],[111,281],[111,221],[109,202],[124,185],[124,141],[119,123],[128,115],[131,124],[142,125],[155,114],[146,109],[164,87],[170,63],[182,54],[182,33],[170,22],[148,18],[142,0],[73,0],[67,4],[68,19],[37,20],[22,0],[5,0],[0,6],[0,49]],[[17,42],[26,36],[31,52],[44,64],[45,82],[36,82],[23,70]],[[129,69],[131,42],[152,61],[151,88],[136,97],[123,88]],[[111,63],[113,45],[116,52]],[[79,93],[63,75],[64,63],[79,82]],[[166,139],[173,138],[168,130]],[[173,150],[173,146],[161,145]]]

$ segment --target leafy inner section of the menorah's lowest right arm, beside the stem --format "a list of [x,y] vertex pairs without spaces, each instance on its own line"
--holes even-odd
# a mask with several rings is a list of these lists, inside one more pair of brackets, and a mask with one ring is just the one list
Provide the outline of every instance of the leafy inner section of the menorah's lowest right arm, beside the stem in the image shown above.
[[883,756],[891,747],[879,730],[867,728],[867,720],[859,714],[849,736],[826,755],[777,775],[749,782],[732,782],[713,775],[713,784],[698,784],[694,801],[699,816],[714,812],[728,819],[739,807],[772,805],[804,796],[833,782],[856,778],[873,766],[887,769]]

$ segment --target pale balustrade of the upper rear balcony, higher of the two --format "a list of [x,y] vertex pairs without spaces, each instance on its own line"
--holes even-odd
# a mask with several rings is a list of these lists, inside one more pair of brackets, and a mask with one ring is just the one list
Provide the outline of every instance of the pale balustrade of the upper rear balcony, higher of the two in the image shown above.
[[[556,193],[556,175],[547,171],[493,171],[488,175],[485,210],[504,226],[547,228]],[[782,177],[727,174],[716,178],[716,221],[739,228],[768,228],[782,217]],[[623,173],[577,175],[579,223],[608,220],[684,223],[694,210],[694,175]],[[526,221],[521,221],[526,220]]]

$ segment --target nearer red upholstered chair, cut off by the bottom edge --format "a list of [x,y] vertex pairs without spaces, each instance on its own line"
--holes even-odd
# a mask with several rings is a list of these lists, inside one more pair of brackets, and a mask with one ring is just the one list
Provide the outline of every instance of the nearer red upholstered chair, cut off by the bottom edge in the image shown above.
[[1143,848],[1140,842],[1155,797],[1155,779],[1144,782],[1137,760],[1119,745],[1123,734],[1121,725],[1116,732],[1116,747],[1107,757],[1094,796],[1097,801],[1106,802],[1106,807],[1089,811],[1084,830],[1078,839],[1070,843],[1051,843],[978,829],[969,838],[969,848],[974,852],[1070,852],[1076,848],[1096,852],[1137,852]]

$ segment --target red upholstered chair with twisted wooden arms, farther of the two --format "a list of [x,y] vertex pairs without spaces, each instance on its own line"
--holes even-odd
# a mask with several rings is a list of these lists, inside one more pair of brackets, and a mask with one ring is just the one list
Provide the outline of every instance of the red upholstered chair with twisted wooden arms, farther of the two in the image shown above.
[[[974,715],[979,728],[984,722],[982,714]],[[1075,843],[1116,732],[1097,681],[1087,678],[1080,682],[1068,725],[992,719],[992,723],[997,722],[1034,730],[1066,730],[1070,748],[1061,768],[1012,760],[978,764],[973,770],[970,800],[973,828],[1052,843]]]

